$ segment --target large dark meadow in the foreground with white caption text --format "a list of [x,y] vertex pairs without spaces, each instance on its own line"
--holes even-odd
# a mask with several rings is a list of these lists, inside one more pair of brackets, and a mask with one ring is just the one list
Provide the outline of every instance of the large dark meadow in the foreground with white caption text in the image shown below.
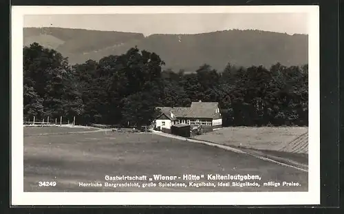
[[[52,131],[54,129],[54,131]],[[56,127],[24,128],[24,191],[308,191],[308,173],[184,140],[166,138],[153,133],[92,133],[54,134],[76,129]],[[89,129],[87,129],[89,130]],[[82,130],[80,130],[82,131]],[[51,135],[34,136],[37,133]],[[259,175],[261,180],[230,180],[256,182],[260,186],[221,187],[221,180],[206,180],[208,174]],[[161,182],[185,183],[185,187],[147,187],[151,181],[134,181],[138,187],[105,187],[105,175],[205,175],[198,182],[211,182],[215,187],[195,187],[192,180]],[[39,186],[39,182],[56,182],[56,186]],[[98,182],[103,186],[79,186],[79,182]],[[222,180],[226,183],[228,181]],[[281,186],[264,186],[264,182],[280,182]],[[299,183],[283,186],[282,182]],[[197,182],[196,182],[197,183]]]

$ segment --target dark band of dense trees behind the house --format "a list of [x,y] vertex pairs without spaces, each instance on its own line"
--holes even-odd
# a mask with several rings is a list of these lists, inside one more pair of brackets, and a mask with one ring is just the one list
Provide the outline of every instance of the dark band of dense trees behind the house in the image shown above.
[[38,43],[23,51],[24,120],[76,116],[77,124],[149,125],[156,106],[202,100],[219,102],[224,126],[308,125],[308,65],[202,65],[184,74],[162,71],[158,54],[137,47],[73,66]]

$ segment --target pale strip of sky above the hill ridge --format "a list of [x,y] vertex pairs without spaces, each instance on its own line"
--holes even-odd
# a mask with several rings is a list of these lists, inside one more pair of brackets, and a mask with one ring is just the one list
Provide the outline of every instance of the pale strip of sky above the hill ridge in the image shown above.
[[217,30],[264,30],[308,34],[306,13],[256,14],[52,14],[25,15],[24,27],[79,28],[149,34],[197,34]]

